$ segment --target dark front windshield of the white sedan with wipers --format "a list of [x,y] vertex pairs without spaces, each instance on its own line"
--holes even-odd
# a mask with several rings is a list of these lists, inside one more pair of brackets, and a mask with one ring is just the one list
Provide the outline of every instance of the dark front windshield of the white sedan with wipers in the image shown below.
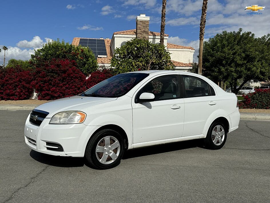
[[91,87],[81,96],[121,97],[146,78],[147,73],[122,73]]

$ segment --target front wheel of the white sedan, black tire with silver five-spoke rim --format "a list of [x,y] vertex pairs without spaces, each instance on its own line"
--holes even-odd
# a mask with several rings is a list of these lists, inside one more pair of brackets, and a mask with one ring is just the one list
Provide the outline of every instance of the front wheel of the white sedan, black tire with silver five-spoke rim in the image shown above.
[[86,146],[85,158],[95,169],[110,169],[120,164],[124,150],[124,140],[121,135],[114,130],[104,129],[90,138]]

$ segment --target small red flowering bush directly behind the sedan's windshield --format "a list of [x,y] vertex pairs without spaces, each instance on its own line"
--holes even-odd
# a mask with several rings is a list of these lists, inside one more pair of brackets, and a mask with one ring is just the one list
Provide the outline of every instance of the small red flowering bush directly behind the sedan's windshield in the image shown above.
[[90,77],[86,80],[86,89],[114,76],[110,69],[100,69],[91,73]]

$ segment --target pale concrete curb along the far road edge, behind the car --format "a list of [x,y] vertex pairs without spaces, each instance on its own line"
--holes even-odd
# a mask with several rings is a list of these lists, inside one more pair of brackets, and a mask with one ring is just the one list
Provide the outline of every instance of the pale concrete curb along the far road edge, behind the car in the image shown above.
[[[37,106],[39,104],[0,104],[0,110],[33,110]],[[270,114],[240,112],[240,119],[270,121]]]

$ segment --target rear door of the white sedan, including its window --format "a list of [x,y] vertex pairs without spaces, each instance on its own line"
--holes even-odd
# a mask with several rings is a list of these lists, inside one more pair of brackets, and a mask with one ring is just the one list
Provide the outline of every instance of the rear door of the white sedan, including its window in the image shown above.
[[185,103],[182,136],[200,135],[209,116],[219,109],[219,99],[213,87],[202,78],[182,75],[181,79]]

